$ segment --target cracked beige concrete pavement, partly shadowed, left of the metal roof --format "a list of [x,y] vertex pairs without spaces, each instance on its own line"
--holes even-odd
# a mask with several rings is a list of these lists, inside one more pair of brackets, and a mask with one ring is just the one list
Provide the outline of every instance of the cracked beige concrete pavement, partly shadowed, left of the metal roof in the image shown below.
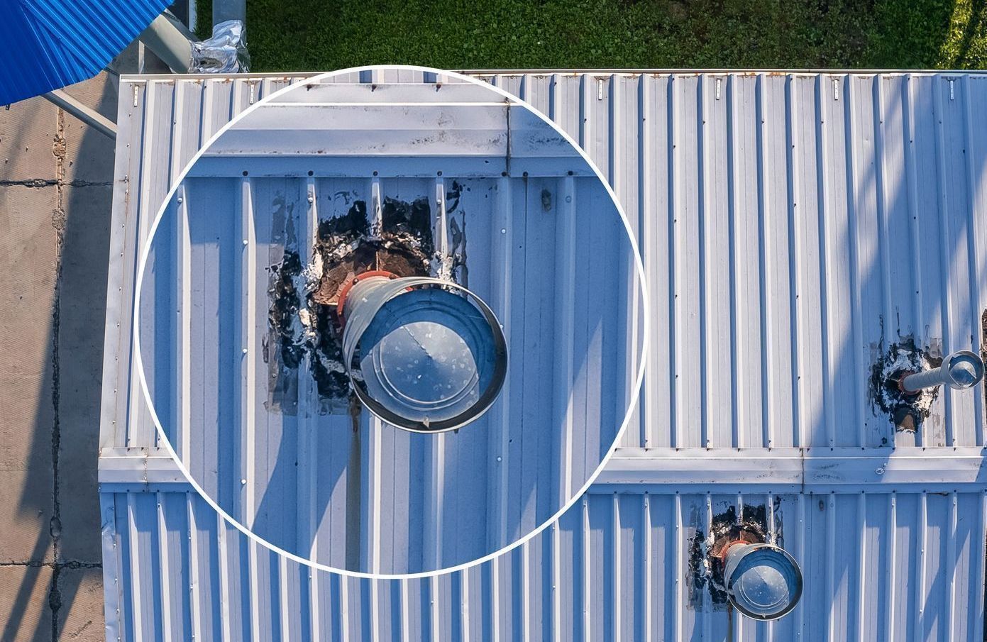
[[[115,120],[106,72],[67,91]],[[42,98],[0,107],[3,642],[104,639],[97,445],[113,158],[109,138]]]

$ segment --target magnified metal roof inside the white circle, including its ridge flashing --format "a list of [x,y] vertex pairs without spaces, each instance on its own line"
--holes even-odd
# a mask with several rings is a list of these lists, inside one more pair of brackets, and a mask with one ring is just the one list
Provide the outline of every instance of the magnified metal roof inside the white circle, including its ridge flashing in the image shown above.
[[[210,147],[156,232],[139,313],[158,417],[208,496],[279,548],[392,574],[473,561],[550,520],[613,447],[640,363],[633,248],[576,150],[485,85],[300,89]],[[510,354],[491,411],[441,435],[320,409],[270,329],[290,254],[308,263],[359,204],[413,202]]]

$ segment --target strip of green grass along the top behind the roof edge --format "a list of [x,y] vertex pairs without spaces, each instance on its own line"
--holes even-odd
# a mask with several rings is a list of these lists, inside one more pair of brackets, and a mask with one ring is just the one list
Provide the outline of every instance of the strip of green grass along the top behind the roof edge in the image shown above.
[[[200,16],[208,16],[198,3]],[[981,68],[987,0],[249,0],[254,71]],[[201,34],[201,31],[199,32]]]

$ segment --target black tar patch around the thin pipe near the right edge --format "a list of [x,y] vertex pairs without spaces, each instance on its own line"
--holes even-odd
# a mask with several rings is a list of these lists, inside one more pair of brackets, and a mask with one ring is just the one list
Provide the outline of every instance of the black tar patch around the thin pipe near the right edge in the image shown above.
[[897,381],[904,372],[937,368],[943,362],[941,349],[923,348],[911,336],[902,336],[879,353],[871,367],[868,392],[875,409],[886,414],[896,430],[915,432],[932,412],[939,389],[909,395],[901,392]]

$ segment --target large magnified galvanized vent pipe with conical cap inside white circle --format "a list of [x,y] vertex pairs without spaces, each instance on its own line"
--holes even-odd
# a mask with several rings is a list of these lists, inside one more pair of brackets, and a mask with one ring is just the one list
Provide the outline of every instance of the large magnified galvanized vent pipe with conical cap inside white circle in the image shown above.
[[460,428],[486,412],[503,386],[503,330],[461,285],[367,272],[342,292],[339,311],[352,389],[390,424],[429,433]]

